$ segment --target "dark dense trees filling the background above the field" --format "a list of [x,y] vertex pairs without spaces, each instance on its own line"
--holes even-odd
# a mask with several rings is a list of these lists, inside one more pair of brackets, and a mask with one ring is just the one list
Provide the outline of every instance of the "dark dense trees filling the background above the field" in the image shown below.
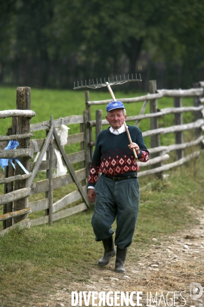
[[7,0],[0,12],[1,83],[69,87],[134,72],[169,87],[202,79],[203,0]]

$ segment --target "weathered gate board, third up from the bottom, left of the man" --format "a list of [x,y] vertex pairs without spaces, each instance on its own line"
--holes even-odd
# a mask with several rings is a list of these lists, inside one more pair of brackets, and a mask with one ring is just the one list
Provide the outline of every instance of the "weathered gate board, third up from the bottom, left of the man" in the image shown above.
[[[86,169],[80,169],[75,171],[75,174],[79,181],[86,179]],[[57,189],[59,187],[68,185],[70,183],[73,183],[73,179],[70,174],[66,174],[64,176],[53,178],[53,189]],[[31,194],[37,194],[46,192],[49,190],[48,187],[48,179],[33,182],[31,185]]]

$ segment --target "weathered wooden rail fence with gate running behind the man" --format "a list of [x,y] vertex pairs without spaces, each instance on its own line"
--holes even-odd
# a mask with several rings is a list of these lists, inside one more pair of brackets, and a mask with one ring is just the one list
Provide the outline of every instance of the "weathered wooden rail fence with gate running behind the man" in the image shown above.
[[[142,133],[144,138],[150,137],[150,148],[148,148],[150,159],[144,164],[139,162],[139,166],[144,166],[145,170],[140,171],[138,177],[157,173],[162,178],[164,177],[164,171],[182,165],[199,156],[200,151],[195,151],[194,146],[200,144],[203,147],[204,145],[204,136],[202,134],[204,130],[203,83],[196,84],[196,87],[190,90],[157,90],[156,81],[150,80],[149,93],[147,95],[120,99],[124,104],[143,101],[140,114],[127,116],[126,122],[135,121],[135,125],[138,126],[143,119],[149,119],[150,121],[150,130],[143,131]],[[17,113],[17,110],[10,111],[10,116],[13,117],[12,129],[8,131],[9,136],[1,136],[0,141],[19,140],[20,149],[13,149],[15,151],[7,150],[6,153],[4,150],[0,150],[0,158],[19,157],[20,162],[25,169],[29,170],[29,173],[25,174],[16,163],[14,173],[12,165],[9,164],[5,170],[5,178],[0,179],[0,184],[5,184],[5,194],[0,196],[0,205],[4,206],[3,214],[0,215],[0,221],[3,221],[4,228],[0,232],[1,235],[4,235],[7,230],[16,226],[30,227],[30,225],[45,223],[52,225],[53,221],[86,210],[89,207],[86,183],[93,146],[95,145],[92,128],[95,126],[97,136],[103,125],[107,125],[107,121],[102,119],[101,110],[97,110],[95,120],[91,120],[91,105],[108,104],[111,101],[111,99],[90,101],[89,92],[85,92],[86,111],[84,111],[82,116],[67,116],[57,120],[53,120],[51,116],[48,121],[30,125],[30,118],[35,115],[33,111],[30,111],[30,104],[28,104],[28,101],[30,102],[30,88],[18,87],[17,97],[19,93],[21,93],[21,100],[27,105],[28,111],[20,111],[25,112],[21,113],[21,115]],[[174,106],[158,110],[158,99],[164,96],[173,97]],[[183,97],[194,97],[194,105],[182,107]],[[148,103],[150,113],[144,114]],[[194,114],[192,122],[183,124],[183,113],[185,112]],[[159,118],[168,114],[174,114],[174,125],[159,127]],[[0,112],[0,118],[4,118],[3,116],[7,117],[7,115],[8,111]],[[20,121],[19,118],[24,119],[24,121]],[[15,125],[15,122],[18,122],[18,124]],[[61,145],[56,130],[62,124],[69,125],[69,127],[71,125],[79,126],[79,133],[69,135],[67,138],[66,146],[78,145],[75,146],[75,151],[68,155]],[[46,138],[30,140],[33,136],[30,131],[34,133],[34,131],[39,130],[46,131]],[[184,131],[187,130],[194,131],[194,138],[191,141],[184,142]],[[175,134],[175,143],[162,146],[160,136],[172,133]],[[185,148],[192,146],[193,152],[185,156]],[[57,167],[58,161],[55,149],[60,151],[64,165],[68,170],[66,174],[58,177],[53,176],[53,169]],[[164,163],[169,159],[168,153],[171,151],[176,151],[176,161]],[[33,153],[38,153],[35,162],[30,161]],[[45,161],[43,159],[44,156],[46,156]],[[74,170],[76,163],[77,170]],[[40,181],[37,180],[36,174],[38,171],[45,171],[46,178]],[[13,182],[15,182],[14,188]],[[71,192],[54,203],[53,191],[63,186],[71,186]],[[35,197],[37,200],[29,202],[29,196],[31,198]],[[43,216],[33,218],[32,220],[27,218],[28,213],[38,211],[43,212]]]

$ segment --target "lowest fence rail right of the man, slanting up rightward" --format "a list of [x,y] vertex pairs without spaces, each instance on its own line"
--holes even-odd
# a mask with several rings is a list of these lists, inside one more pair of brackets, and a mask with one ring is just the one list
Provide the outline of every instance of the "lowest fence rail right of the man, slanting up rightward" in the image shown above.
[[143,176],[147,176],[147,175],[151,175],[151,174],[156,174],[156,173],[161,172],[161,171],[169,170],[169,169],[171,169],[173,167],[180,166],[180,165],[190,161],[193,158],[197,158],[197,157],[199,157],[199,155],[200,155],[200,151],[195,151],[195,152],[191,153],[191,155],[186,156],[186,157],[184,157],[184,158],[182,158],[180,160],[177,160],[175,162],[172,162],[172,163],[169,163],[169,164],[165,164],[165,165],[157,167],[157,168],[153,168],[153,169],[149,169],[149,170],[144,170],[142,172],[138,172],[138,177],[143,177]]

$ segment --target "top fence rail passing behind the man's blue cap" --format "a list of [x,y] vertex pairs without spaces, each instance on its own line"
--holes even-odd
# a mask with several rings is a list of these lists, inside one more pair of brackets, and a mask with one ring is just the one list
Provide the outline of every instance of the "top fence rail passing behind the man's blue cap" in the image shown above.
[[[144,96],[139,96],[139,97],[133,97],[133,98],[117,98],[117,100],[121,102],[126,102],[126,103],[132,103],[132,102],[141,102],[144,100],[150,100],[150,99],[158,99],[162,98],[163,94],[161,93],[156,93],[156,94],[147,94]],[[87,101],[86,103],[88,105],[99,105],[99,104],[108,104],[112,101],[112,99],[107,99],[107,100],[93,100],[93,101]]]

